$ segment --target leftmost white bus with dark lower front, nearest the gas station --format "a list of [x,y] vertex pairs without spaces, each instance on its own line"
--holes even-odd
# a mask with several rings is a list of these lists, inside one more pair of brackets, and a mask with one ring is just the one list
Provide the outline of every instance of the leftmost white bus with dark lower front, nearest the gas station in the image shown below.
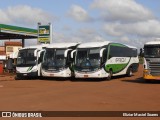
[[42,49],[47,45],[48,44],[29,46],[19,50],[16,65],[16,79],[41,76]]

